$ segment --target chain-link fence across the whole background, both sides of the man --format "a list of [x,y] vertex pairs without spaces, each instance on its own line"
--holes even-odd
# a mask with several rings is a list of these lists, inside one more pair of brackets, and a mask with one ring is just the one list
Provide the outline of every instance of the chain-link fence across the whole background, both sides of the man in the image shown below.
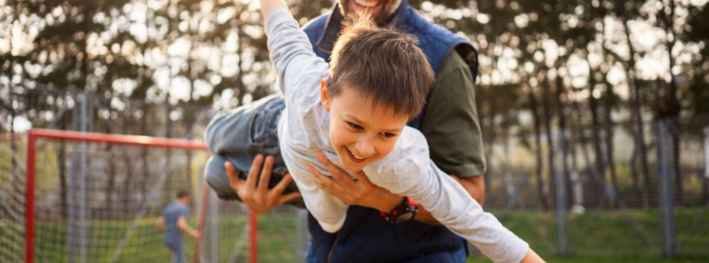
[[[202,140],[203,129],[215,112],[212,108],[189,103],[166,106],[165,103],[63,91],[27,90],[13,96],[22,99],[13,103],[13,112],[4,111],[3,118],[12,117],[16,126],[21,126],[17,120],[25,119],[35,128]],[[5,130],[9,130],[9,125],[4,124]],[[709,258],[708,252],[703,250],[709,245],[709,116],[645,120],[642,129],[637,127],[638,123],[632,122],[568,127],[552,133],[530,130],[487,135],[486,210],[542,254]],[[17,241],[24,239],[20,226],[24,218],[25,144],[7,136],[1,143],[0,261],[17,262],[23,258],[23,247],[17,245]],[[61,189],[69,191],[67,186],[72,184],[73,176],[70,174],[76,174],[81,164],[76,160],[81,160],[86,153],[82,153],[81,143],[43,143],[38,152],[43,152],[40,156],[46,158],[38,161],[38,171],[45,169],[39,173],[51,174],[51,177],[41,178],[47,189],[42,190],[45,196],[38,195],[37,216],[50,221],[68,221],[71,211],[68,200],[65,206],[57,203],[62,200],[57,196],[67,195],[62,194]],[[91,209],[86,211],[86,216],[101,222],[106,220],[106,225],[112,225],[111,219],[135,219],[136,211],[140,211],[140,200],[149,197],[145,191],[135,190],[155,186],[154,181],[144,182],[140,176],[152,173],[152,177],[157,177],[155,174],[164,172],[169,163],[175,168],[165,182],[164,196],[151,199],[155,203],[145,212],[145,218],[154,219],[172,200],[171,191],[188,188],[194,193],[190,223],[195,225],[198,218],[194,215],[202,209],[199,207],[202,203],[199,166],[203,155],[188,156],[180,150],[128,148],[109,145],[87,148],[93,152],[86,155],[86,169],[96,175],[89,176],[95,179],[84,184],[103,188],[100,194],[89,194],[96,199],[89,202]],[[143,163],[145,157],[148,164]],[[60,159],[65,161],[58,162]],[[144,172],[145,169],[149,172]],[[65,171],[64,179],[60,171]],[[107,187],[111,184],[113,189],[109,191]],[[213,195],[207,203],[202,261],[247,260],[250,225],[246,209],[235,201],[218,201]],[[259,261],[302,261],[308,240],[305,215],[305,211],[284,206],[259,216]],[[145,253],[155,255],[146,257],[169,258],[160,235],[140,232],[155,231],[150,228],[151,219],[138,222],[140,228],[136,226],[135,231],[152,239],[152,246],[128,242],[124,247],[152,247],[154,252]],[[68,258],[71,250],[67,242],[81,243],[81,240],[69,240],[68,225],[71,224],[67,223],[67,229],[61,233],[54,230],[38,237],[40,250],[35,257],[40,262],[50,260],[52,254],[57,253],[65,253],[62,258]],[[45,231],[43,224],[37,226],[38,233],[46,233],[42,232]],[[106,228],[113,230],[101,231],[121,233],[129,227],[113,224]],[[93,228],[84,231],[88,231],[89,240],[100,239],[93,235],[104,235]],[[111,253],[116,254],[114,243],[120,244],[121,238],[115,237],[113,243],[104,245],[96,241],[95,245],[113,248],[91,248],[84,253],[86,257],[91,256],[89,259],[103,254],[101,260],[108,261]],[[194,247],[194,241],[189,238],[185,241],[186,247]],[[43,248],[43,244],[50,245]],[[72,253],[78,255],[79,249],[73,250]],[[131,251],[128,249],[121,254],[143,254],[140,250]]]

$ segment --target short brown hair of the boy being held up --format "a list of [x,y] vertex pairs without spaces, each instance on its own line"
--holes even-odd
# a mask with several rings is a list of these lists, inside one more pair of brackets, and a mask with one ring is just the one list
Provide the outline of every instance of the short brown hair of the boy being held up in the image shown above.
[[[397,116],[414,118],[434,82],[418,39],[392,28],[378,28],[369,16],[345,22],[330,55],[328,91],[354,89],[372,105],[391,106]],[[374,110],[374,109],[372,109]]]

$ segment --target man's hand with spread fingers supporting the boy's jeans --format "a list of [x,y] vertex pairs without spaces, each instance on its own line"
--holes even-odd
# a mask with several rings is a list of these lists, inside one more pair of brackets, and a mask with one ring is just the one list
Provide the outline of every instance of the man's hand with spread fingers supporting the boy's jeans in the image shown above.
[[230,162],[225,162],[226,174],[229,177],[229,185],[238,194],[241,201],[254,213],[266,213],[271,209],[280,206],[281,204],[291,201],[298,196],[299,192],[282,195],[286,186],[291,184],[291,175],[286,174],[273,189],[268,189],[268,183],[271,180],[271,172],[273,169],[274,158],[266,157],[266,163],[261,170],[259,184],[256,184],[256,177],[259,176],[259,168],[264,163],[263,155],[257,155],[254,162],[251,164],[246,181],[239,179],[236,174],[234,165]]

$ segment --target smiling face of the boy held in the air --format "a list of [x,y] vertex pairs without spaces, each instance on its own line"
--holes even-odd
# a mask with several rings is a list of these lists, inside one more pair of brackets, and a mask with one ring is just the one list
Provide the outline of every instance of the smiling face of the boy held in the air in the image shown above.
[[406,116],[397,116],[390,107],[379,106],[372,111],[372,100],[360,99],[352,89],[330,97],[324,79],[320,100],[330,112],[330,143],[342,168],[352,172],[389,155],[408,122]]

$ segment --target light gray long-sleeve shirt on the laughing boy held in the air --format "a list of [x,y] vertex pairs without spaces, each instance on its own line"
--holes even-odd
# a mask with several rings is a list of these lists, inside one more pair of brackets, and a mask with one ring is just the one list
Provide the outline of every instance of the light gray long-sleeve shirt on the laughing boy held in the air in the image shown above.
[[[310,164],[329,174],[314,157],[318,150],[342,167],[328,138],[330,115],[320,103],[320,80],[328,77],[328,63],[315,55],[308,37],[286,9],[269,13],[266,30],[286,101],[278,128],[281,154],[308,211],[325,231],[334,233],[345,222],[348,205],[318,189],[316,178],[306,169]],[[519,262],[529,248],[433,164],[428,144],[418,130],[404,128],[391,153],[369,164],[363,172],[373,184],[413,198],[494,262]]]

